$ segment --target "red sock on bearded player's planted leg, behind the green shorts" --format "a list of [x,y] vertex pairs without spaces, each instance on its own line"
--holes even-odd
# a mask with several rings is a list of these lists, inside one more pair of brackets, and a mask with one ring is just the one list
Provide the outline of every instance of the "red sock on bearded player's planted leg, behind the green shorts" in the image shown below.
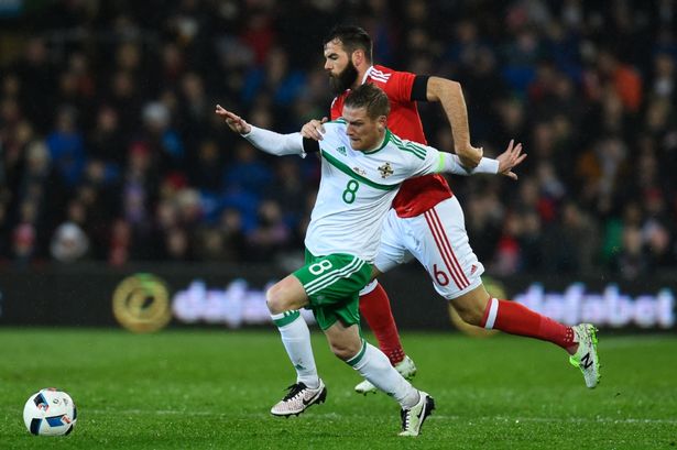
[[404,360],[404,349],[390,309],[390,299],[380,284],[376,284],[375,289],[369,294],[360,296],[360,314],[367,320],[379,341],[379,348],[385,353],[390,363],[395,365]]

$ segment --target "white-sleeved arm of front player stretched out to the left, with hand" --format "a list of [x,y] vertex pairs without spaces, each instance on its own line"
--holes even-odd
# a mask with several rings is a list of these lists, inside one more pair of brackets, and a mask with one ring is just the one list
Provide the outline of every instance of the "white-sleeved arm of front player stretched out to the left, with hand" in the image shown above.
[[252,143],[256,149],[273,155],[303,155],[304,145],[301,133],[280,134],[247,123],[244,119],[228,111],[220,105],[216,106],[216,113],[226,119],[228,127]]

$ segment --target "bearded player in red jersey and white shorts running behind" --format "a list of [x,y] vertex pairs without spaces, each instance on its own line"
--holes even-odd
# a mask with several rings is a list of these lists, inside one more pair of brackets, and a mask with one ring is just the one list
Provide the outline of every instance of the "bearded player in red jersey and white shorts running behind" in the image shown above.
[[[324,53],[325,70],[337,95],[331,103],[332,120],[340,116],[351,89],[372,83],[390,99],[387,127],[393,133],[426,144],[416,102],[438,101],[451,124],[455,151],[461,162],[473,167],[481,160],[482,150],[470,144],[468,112],[458,83],[374,65],[371,37],[358,26],[335,28],[324,42]],[[321,122],[314,120],[304,125],[302,134],[321,139],[320,131]],[[484,267],[468,242],[461,207],[439,175],[408,179],[402,185],[383,229],[373,277],[412,257],[425,266],[435,289],[466,322],[553,342],[571,355],[571,364],[580,367],[588,387],[598,384],[599,359],[592,325],[568,327],[517,303],[489,295],[480,278]],[[387,294],[374,279],[360,295],[360,312],[381,350],[405,377],[413,376],[416,369],[400,342]],[[356,391],[375,389],[364,381]]]

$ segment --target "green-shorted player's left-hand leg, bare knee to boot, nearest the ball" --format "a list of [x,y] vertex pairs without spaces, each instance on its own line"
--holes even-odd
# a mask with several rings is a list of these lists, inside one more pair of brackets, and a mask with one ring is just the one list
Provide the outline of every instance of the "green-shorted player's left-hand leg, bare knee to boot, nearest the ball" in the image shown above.
[[296,383],[272,408],[275,416],[303,413],[308,406],[324,402],[327,388],[317,374],[310,344],[310,331],[298,309],[308,304],[308,297],[298,278],[288,275],[266,292],[266,304],[273,323],[280,330],[284,349],[296,370]]

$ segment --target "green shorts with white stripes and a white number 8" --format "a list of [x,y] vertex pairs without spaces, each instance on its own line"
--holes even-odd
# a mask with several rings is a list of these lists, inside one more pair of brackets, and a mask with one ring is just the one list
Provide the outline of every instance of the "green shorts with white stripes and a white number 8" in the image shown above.
[[371,264],[346,253],[315,256],[306,249],[306,264],[293,275],[308,296],[317,325],[327,330],[337,321],[360,325],[360,290],[371,279]]

